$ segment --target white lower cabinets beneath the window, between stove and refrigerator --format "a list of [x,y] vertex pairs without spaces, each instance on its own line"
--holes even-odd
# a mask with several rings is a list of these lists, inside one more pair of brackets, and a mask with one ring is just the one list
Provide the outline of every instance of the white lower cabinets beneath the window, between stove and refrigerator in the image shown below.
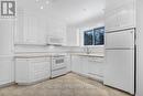
[[103,81],[103,57],[72,56],[72,71],[95,79]]

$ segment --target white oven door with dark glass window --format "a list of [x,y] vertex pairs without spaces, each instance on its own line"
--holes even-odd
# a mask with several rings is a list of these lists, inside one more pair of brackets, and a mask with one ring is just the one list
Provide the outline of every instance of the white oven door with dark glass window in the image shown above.
[[61,70],[63,67],[66,67],[66,64],[65,64],[65,57],[54,57],[52,60],[52,70]]

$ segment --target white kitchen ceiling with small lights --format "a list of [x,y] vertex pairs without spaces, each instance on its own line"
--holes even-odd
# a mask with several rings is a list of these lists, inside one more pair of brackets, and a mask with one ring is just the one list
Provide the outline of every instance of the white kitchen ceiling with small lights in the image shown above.
[[106,0],[18,0],[18,6],[73,24],[103,14],[105,2]]

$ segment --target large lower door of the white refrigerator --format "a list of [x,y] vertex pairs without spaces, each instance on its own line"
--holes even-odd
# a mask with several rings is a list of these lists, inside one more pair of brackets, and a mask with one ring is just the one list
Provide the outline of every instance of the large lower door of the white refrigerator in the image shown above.
[[105,85],[134,94],[134,50],[107,50]]

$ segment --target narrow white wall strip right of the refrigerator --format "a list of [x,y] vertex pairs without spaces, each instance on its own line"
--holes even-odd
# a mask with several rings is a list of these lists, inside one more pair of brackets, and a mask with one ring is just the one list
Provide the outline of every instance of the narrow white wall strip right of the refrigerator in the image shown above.
[[143,0],[138,1],[138,94],[143,96]]

